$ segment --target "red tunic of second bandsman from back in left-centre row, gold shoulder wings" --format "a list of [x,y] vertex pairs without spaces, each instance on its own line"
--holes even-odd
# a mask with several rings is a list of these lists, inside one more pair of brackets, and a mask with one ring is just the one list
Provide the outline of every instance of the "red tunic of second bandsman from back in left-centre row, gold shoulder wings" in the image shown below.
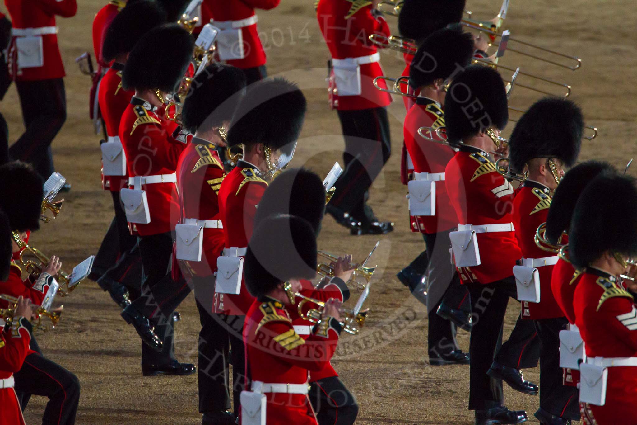
[[[172,138],[170,127],[173,124],[167,123],[163,115],[152,112],[148,102],[132,97],[119,127],[129,176],[175,173],[179,155],[186,145]],[[140,235],[149,236],[173,231],[179,218],[176,184],[146,184],[141,189],[146,191],[148,198],[150,223],[136,224]]]

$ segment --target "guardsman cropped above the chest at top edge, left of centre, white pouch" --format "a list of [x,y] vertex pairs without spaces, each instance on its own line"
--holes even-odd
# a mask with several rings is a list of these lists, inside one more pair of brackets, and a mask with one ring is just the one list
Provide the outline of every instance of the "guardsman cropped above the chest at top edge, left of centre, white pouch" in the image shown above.
[[248,84],[265,78],[266,52],[263,50],[255,9],[271,10],[281,0],[208,0],[213,21],[221,31],[217,53],[221,61],[243,69]]

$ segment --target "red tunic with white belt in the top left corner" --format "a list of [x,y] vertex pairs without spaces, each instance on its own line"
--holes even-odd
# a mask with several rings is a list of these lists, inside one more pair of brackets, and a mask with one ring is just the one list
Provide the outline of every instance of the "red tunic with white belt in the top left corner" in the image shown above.
[[[42,39],[43,66],[36,68],[18,69],[18,51],[15,40],[24,34],[25,29],[34,29],[37,33],[41,28],[55,27],[55,15],[61,17],[75,16],[77,11],[76,0],[4,0],[13,29],[11,30],[11,44],[7,62],[9,72],[14,81],[48,80],[50,78],[62,78],[64,65],[60,49],[57,47],[57,34],[35,34]],[[27,30],[31,31],[31,30]]]

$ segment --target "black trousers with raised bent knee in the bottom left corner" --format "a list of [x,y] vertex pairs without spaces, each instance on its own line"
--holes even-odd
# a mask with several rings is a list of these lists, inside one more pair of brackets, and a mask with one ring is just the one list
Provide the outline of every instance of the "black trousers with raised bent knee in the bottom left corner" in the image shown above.
[[39,353],[32,353],[13,376],[17,393],[48,397],[43,424],[75,424],[80,381],[73,373]]

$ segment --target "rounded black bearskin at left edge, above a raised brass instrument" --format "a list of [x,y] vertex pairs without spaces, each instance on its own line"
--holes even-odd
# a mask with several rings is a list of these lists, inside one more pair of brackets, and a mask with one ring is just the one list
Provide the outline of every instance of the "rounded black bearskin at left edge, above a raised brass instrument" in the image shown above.
[[0,209],[9,218],[11,230],[39,229],[44,182],[31,165],[13,161],[0,166]]

